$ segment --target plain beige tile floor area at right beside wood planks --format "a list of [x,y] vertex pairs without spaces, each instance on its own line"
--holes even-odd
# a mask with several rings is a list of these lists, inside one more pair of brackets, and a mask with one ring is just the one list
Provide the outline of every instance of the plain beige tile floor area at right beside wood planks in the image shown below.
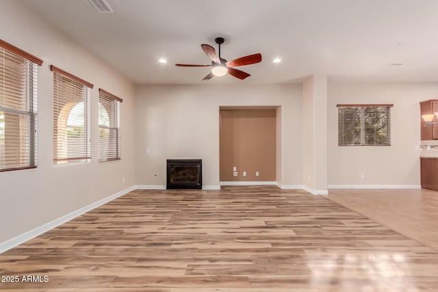
[[438,251],[438,191],[331,189],[328,198]]

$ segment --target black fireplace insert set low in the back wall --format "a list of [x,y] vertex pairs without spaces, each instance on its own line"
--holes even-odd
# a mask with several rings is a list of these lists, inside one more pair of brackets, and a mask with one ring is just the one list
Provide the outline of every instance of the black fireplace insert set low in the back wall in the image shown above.
[[202,159],[167,159],[167,189],[202,189]]

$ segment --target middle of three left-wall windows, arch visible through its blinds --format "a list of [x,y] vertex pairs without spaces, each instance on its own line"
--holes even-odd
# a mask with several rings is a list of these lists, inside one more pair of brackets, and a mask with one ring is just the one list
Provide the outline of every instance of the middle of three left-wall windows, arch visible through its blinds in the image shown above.
[[90,101],[93,85],[51,66],[53,71],[53,164],[91,159]]

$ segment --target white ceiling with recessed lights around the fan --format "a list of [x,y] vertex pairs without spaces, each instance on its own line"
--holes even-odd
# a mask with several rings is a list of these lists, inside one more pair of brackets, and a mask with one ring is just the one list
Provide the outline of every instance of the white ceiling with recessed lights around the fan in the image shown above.
[[[136,84],[438,81],[437,0],[107,0],[112,14],[88,0],[20,1]],[[218,36],[225,59],[263,55],[239,67],[252,76],[201,81],[209,68],[175,66],[210,64],[201,44],[217,50]]]

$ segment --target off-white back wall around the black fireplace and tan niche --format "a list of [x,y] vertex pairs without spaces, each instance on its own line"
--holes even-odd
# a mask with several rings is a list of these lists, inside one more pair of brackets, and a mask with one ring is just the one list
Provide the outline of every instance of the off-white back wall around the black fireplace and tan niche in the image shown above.
[[203,159],[203,185],[218,187],[219,107],[260,105],[282,109],[279,183],[301,185],[301,85],[144,85],[135,95],[137,185],[166,185],[166,159]]

